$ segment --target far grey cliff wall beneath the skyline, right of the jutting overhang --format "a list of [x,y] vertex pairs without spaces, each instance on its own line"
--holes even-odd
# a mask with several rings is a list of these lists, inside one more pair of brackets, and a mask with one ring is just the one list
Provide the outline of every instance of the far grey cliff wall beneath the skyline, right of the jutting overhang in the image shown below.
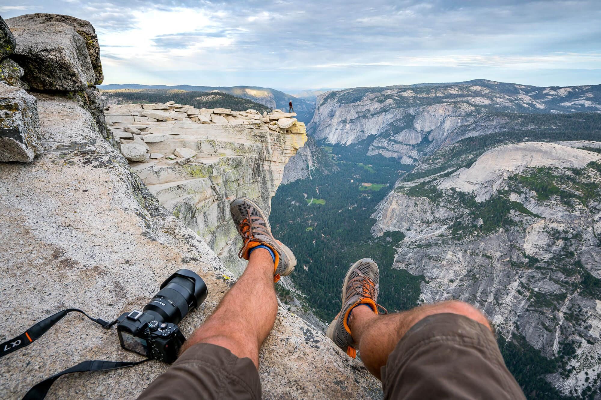
[[307,127],[317,140],[350,145],[370,138],[368,155],[413,164],[471,136],[524,129],[501,113],[601,110],[601,85],[539,88],[489,80],[354,88],[317,98]]

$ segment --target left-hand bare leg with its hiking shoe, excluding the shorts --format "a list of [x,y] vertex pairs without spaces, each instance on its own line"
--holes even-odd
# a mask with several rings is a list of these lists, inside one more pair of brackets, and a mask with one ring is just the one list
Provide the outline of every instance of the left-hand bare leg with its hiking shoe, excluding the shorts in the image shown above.
[[243,240],[239,256],[248,260],[248,265],[215,312],[188,339],[182,353],[194,344],[215,344],[239,358],[248,357],[258,369],[259,348],[278,314],[274,279],[289,275],[296,257],[273,237],[257,203],[239,197],[230,203],[230,212]]

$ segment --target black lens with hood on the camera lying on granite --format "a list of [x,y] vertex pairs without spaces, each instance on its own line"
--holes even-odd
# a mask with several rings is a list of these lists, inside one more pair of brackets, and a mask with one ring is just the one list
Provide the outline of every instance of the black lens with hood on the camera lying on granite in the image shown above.
[[207,298],[203,279],[189,269],[180,269],[169,276],[144,311],[159,322],[177,324],[189,311]]

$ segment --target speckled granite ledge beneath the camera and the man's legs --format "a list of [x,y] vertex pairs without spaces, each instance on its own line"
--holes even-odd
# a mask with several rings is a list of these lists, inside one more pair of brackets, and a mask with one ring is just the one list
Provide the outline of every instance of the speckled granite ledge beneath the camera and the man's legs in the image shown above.
[[[233,273],[159,204],[103,139],[88,110],[75,100],[36,97],[46,151],[31,164],[0,164],[0,290],[10,299],[1,309],[5,335],[17,335],[66,307],[114,317],[144,305],[163,279],[185,267],[199,273],[209,288],[200,309],[180,324],[189,336],[236,281]],[[81,360],[139,358],[120,348],[114,330],[70,315],[35,344],[2,360],[0,392],[3,398],[21,398],[42,378]],[[267,399],[378,398],[382,393],[358,360],[284,308],[260,360]],[[153,361],[63,377],[47,398],[132,398],[166,368]]]

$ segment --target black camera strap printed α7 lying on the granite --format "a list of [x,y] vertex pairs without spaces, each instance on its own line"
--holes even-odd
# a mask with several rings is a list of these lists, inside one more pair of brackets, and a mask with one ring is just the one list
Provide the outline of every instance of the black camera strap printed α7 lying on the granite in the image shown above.
[[[107,322],[101,320],[100,318],[92,318],[84,311],[81,311],[81,309],[67,308],[63,311],[57,312],[56,314],[50,315],[50,317],[44,320],[41,320],[40,322],[30,327],[28,330],[26,330],[16,338],[10,339],[0,344],[0,358],[12,353],[13,351],[17,351],[20,348],[30,345],[36,339],[40,338],[41,335],[46,333],[54,324],[56,324],[67,314],[69,314],[69,312],[81,312],[81,314],[84,314],[86,317],[90,318],[90,320],[96,322],[105,329],[109,329],[111,326],[117,323],[117,320]],[[74,365],[71,368],[67,368],[64,371],[58,372],[58,374],[52,375],[51,377],[44,379],[40,383],[35,384],[35,386],[29,389],[29,391],[25,394],[23,400],[43,399],[44,397],[46,397],[46,393],[48,393],[48,390],[50,390],[50,386],[52,386],[55,380],[62,377],[63,375],[71,374],[72,372],[106,371],[108,369],[127,368],[128,366],[138,365],[148,360],[150,359],[145,359],[141,361],[82,361],[78,365]]]

